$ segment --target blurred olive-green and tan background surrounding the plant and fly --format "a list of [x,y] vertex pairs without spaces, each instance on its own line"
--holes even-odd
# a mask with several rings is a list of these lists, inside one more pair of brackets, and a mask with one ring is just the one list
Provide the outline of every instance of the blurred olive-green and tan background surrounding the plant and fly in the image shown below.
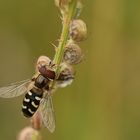
[[[140,140],[140,1],[83,0],[88,38],[73,84],[53,97],[56,131],[43,140]],[[38,56],[53,58],[61,33],[53,0],[0,0],[0,86],[30,78]],[[29,124],[22,98],[0,99],[0,139]]]

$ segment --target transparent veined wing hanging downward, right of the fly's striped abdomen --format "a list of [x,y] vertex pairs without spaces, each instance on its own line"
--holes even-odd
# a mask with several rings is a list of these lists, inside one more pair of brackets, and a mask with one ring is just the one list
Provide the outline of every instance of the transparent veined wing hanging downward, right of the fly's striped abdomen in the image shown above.
[[55,130],[55,115],[51,95],[42,99],[40,109],[44,126],[53,133]]

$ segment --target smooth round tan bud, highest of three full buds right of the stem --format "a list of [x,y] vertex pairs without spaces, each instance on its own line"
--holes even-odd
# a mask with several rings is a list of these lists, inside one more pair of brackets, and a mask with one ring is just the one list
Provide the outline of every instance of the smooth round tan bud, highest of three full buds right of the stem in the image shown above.
[[75,19],[70,24],[70,38],[75,42],[80,42],[86,39],[87,27],[83,20]]

